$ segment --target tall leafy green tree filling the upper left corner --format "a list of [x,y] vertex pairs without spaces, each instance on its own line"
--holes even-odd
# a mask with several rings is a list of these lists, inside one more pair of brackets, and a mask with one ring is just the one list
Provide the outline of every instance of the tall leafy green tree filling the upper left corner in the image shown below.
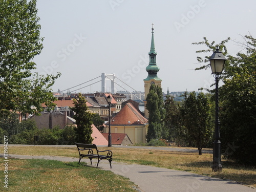
[[36,0],[0,1],[0,115],[38,113],[42,103],[54,106],[50,87],[60,74],[32,73],[32,60],[42,50],[38,21]]

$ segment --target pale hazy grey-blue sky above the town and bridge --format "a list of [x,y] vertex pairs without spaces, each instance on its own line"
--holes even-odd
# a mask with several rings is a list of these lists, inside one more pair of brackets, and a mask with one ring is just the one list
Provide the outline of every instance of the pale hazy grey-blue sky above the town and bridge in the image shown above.
[[196,51],[206,47],[193,42],[230,37],[228,53],[236,55],[242,51],[236,41],[256,36],[253,0],[37,0],[37,9],[44,49],[34,61],[41,75],[61,73],[54,92],[100,92],[101,73],[115,74],[122,86],[116,91],[144,92],[152,23],[165,93],[198,91],[214,82],[210,69],[195,71],[197,56],[206,56]]

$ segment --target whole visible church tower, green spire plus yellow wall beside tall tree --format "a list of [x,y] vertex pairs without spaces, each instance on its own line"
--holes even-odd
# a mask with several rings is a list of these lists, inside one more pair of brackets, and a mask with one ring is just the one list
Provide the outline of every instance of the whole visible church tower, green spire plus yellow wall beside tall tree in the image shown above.
[[[155,51],[154,24],[152,24],[151,48],[148,55],[150,55],[150,63],[146,67],[146,72],[148,73],[147,78],[144,79],[145,99],[147,94],[150,93],[151,84],[155,84],[156,86],[161,87],[161,82],[162,82],[162,80],[157,76],[157,72],[160,70],[160,68],[157,66],[157,63],[156,63],[157,53]],[[146,110],[146,101],[144,101],[144,104],[145,104],[145,117],[148,118],[148,111]]]

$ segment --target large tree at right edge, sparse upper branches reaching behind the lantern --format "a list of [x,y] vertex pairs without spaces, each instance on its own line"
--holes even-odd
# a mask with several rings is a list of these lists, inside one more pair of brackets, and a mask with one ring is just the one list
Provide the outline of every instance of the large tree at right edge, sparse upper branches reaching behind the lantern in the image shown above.
[[[244,52],[239,52],[236,56],[228,55],[226,44],[230,38],[223,40],[219,45],[214,45],[215,41],[209,44],[204,37],[204,41],[195,44],[207,47],[206,50],[198,53],[212,52],[217,46],[220,50],[224,50],[223,54],[227,57],[227,61],[221,75],[224,85],[220,87],[219,94],[222,150],[228,158],[255,165],[256,39],[251,35],[245,35],[243,38],[245,42],[236,43]],[[205,56],[205,59],[198,57],[198,60],[207,63],[209,56]],[[207,67],[208,64],[198,69]]]

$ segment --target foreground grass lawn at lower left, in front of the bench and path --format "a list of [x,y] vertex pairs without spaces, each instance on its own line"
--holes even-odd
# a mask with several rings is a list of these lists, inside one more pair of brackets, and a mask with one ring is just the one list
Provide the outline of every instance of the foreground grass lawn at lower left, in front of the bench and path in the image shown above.
[[77,162],[10,159],[8,168],[8,189],[1,182],[0,191],[136,191],[128,178]]

